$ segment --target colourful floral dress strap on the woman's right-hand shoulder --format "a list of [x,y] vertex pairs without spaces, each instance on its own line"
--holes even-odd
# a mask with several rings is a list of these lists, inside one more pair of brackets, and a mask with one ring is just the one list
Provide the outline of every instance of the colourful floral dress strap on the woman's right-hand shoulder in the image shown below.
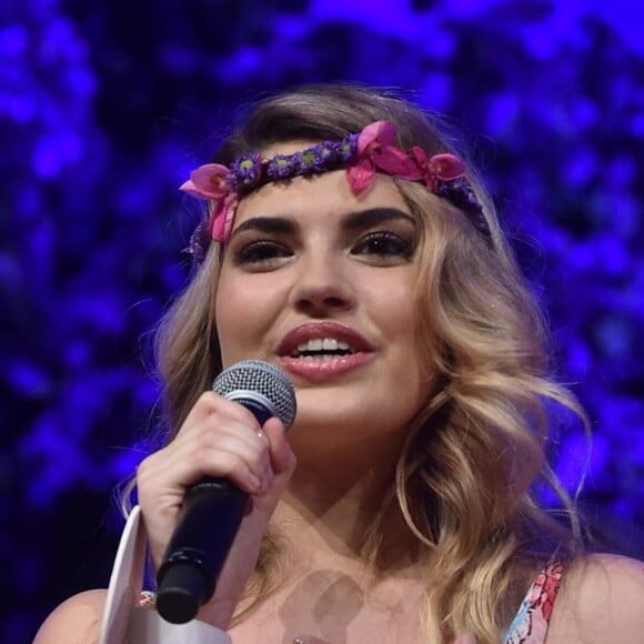
[[563,565],[555,561],[545,566],[527,591],[503,644],[543,644],[561,585]]

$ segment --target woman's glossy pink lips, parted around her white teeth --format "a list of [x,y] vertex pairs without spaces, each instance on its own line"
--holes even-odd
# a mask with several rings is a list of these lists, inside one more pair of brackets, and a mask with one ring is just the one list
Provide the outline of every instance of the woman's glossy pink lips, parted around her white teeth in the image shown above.
[[[345,342],[351,348],[351,353],[324,361],[304,360],[291,355],[303,342],[323,338],[334,338]],[[373,348],[360,333],[344,324],[309,322],[290,331],[280,343],[278,353],[280,364],[286,372],[312,382],[323,382],[354,371],[369,362],[373,356]]]

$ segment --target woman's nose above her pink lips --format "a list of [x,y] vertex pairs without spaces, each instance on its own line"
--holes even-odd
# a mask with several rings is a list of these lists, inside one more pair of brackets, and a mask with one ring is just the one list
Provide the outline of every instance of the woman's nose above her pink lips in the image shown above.
[[355,292],[341,258],[318,252],[301,260],[291,305],[312,318],[326,318],[355,305]]

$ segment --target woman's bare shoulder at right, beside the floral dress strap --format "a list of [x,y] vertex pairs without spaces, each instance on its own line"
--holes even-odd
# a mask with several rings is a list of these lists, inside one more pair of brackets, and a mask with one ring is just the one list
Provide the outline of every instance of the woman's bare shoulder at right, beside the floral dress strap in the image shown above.
[[636,642],[644,633],[644,563],[594,554],[564,572],[549,644]]

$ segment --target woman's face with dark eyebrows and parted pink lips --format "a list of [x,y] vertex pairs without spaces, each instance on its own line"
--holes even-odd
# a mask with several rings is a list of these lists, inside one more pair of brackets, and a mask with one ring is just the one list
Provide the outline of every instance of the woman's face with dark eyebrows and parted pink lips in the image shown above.
[[284,370],[296,391],[295,430],[359,440],[404,426],[432,389],[415,340],[416,239],[414,217],[384,175],[358,197],[344,171],[251,193],[217,294],[223,365],[258,359]]

